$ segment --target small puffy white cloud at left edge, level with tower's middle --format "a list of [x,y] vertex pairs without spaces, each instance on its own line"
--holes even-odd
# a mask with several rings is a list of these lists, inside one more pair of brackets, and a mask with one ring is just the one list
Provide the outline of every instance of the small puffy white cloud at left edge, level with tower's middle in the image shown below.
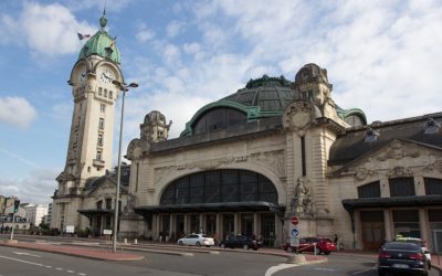
[[23,97],[0,98],[0,121],[28,128],[36,118],[35,108]]

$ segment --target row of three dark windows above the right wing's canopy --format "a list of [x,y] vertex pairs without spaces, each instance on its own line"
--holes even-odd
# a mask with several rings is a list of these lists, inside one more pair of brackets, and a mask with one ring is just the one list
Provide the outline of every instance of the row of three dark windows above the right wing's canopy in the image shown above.
[[[389,179],[390,197],[415,195],[414,178]],[[442,194],[442,179],[424,178],[425,194]],[[359,198],[380,198],[380,181],[358,187]]]

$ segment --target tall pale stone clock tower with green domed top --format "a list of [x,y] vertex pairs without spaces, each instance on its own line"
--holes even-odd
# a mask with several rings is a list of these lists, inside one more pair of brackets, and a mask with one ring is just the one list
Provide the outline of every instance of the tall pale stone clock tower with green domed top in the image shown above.
[[56,178],[51,227],[63,231],[66,225],[87,226],[77,213],[83,208],[85,184],[113,168],[115,103],[124,83],[120,53],[115,40],[105,31],[105,13],[101,29],[83,45],[74,64],[72,86],[73,114],[64,170]]

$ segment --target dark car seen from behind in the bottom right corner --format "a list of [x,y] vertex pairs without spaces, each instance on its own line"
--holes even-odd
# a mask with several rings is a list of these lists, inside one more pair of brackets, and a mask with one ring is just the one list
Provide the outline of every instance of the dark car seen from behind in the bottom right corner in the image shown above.
[[429,263],[425,252],[414,243],[387,242],[383,244],[378,256],[378,274],[386,275],[392,273],[414,273],[428,275]]

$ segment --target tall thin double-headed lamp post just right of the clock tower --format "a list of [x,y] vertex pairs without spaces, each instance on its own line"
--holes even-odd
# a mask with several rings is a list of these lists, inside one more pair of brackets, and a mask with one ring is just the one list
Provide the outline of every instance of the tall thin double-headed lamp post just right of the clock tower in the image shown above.
[[113,81],[113,84],[119,87],[119,89],[123,92],[123,102],[122,102],[122,118],[119,121],[119,141],[118,141],[118,167],[117,167],[117,189],[116,189],[116,195],[115,195],[115,212],[114,212],[114,238],[112,243],[112,252],[116,253],[117,252],[117,232],[118,232],[118,205],[119,205],[119,182],[122,178],[122,136],[123,136],[123,116],[124,116],[124,99],[126,96],[126,92],[129,91],[129,87],[136,88],[138,87],[138,84],[136,83],[130,83],[130,84],[125,84],[120,83],[118,81]]

